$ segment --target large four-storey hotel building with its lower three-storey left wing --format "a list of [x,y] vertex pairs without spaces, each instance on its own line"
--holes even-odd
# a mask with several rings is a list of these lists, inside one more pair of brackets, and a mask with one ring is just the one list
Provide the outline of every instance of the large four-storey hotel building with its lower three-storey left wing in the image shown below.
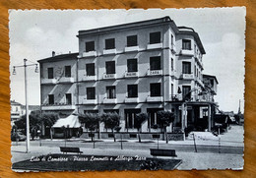
[[140,112],[149,114],[142,131],[159,132],[153,126],[160,110],[175,114],[168,132],[214,126],[218,81],[214,89],[205,88],[206,52],[195,30],[177,27],[164,17],[80,30],[77,37],[78,53],[53,52],[38,61],[42,111],[63,117],[72,112],[116,112],[121,132],[129,133],[137,132],[135,115]]

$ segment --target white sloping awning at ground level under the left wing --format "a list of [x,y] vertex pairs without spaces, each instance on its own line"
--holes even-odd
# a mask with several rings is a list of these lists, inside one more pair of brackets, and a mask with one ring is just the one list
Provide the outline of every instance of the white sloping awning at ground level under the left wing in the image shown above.
[[57,122],[52,126],[53,128],[61,128],[61,127],[69,127],[69,128],[79,128],[81,127],[81,123],[79,122],[78,116],[71,114],[66,118],[58,119]]

